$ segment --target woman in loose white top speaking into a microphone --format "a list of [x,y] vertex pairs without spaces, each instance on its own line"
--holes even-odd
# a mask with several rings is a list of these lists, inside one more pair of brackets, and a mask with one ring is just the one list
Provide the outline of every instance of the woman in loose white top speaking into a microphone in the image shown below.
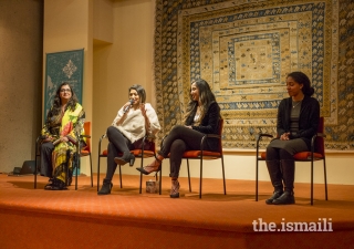
[[[160,129],[155,110],[145,103],[146,93],[142,85],[132,85],[128,90],[129,101],[122,106],[112,125],[107,128],[108,143],[107,172],[98,195],[108,195],[113,187],[112,178],[117,165],[129,163],[135,157],[132,149],[142,148],[143,138],[153,139]],[[148,143],[144,146],[148,149]],[[123,154],[119,157],[119,154]]]

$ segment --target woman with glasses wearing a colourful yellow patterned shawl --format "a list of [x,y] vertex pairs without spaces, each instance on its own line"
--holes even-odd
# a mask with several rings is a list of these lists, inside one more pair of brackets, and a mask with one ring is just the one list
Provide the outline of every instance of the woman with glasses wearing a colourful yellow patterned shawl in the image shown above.
[[44,189],[62,190],[66,189],[65,183],[71,184],[73,158],[84,118],[85,112],[77,103],[72,86],[62,83],[41,132],[41,175],[50,177]]

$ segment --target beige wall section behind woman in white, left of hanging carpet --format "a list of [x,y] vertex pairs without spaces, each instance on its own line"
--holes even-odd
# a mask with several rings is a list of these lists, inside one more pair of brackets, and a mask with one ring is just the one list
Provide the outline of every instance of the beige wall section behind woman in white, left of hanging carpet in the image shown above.
[[[93,54],[93,139],[94,172],[97,143],[128,100],[128,87],[140,84],[146,89],[147,102],[155,105],[153,92],[154,1],[113,1],[113,42],[94,43]],[[104,142],[106,147],[106,141]],[[148,160],[147,160],[148,162]],[[102,159],[105,169],[105,159]],[[125,174],[136,174],[125,167]]]

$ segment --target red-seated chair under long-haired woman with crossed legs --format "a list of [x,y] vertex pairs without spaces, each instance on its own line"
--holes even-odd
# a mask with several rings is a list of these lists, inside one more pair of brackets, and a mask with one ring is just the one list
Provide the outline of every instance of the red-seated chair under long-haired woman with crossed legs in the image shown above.
[[[190,173],[189,173],[189,159],[199,159],[199,163],[200,163],[199,198],[201,198],[202,162],[205,159],[207,159],[207,160],[221,159],[222,180],[223,180],[223,195],[226,195],[223,154],[222,154],[222,143],[221,143],[222,128],[223,128],[223,120],[220,118],[219,120],[219,125],[218,125],[218,133],[217,134],[205,134],[205,136],[201,138],[201,142],[200,142],[200,151],[186,151],[184,153],[184,155],[183,155],[183,159],[187,160],[189,191],[191,191]],[[219,151],[218,152],[210,152],[210,151],[205,151],[204,149],[205,146],[206,146],[207,139],[210,138],[210,137],[219,139]],[[163,143],[164,143],[164,139],[162,142],[162,145],[163,145]]]

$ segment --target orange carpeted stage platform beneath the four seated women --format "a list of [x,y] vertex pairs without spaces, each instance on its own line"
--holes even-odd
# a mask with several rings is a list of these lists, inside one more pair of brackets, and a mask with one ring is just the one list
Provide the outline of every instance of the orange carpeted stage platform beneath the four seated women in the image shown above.
[[[311,206],[310,185],[295,183],[296,205],[273,206],[264,204],[272,193],[268,181],[260,181],[259,201],[252,180],[228,179],[223,195],[222,180],[205,179],[201,199],[198,178],[191,178],[191,193],[180,178],[179,199],[169,198],[168,177],[162,195],[145,187],[138,194],[139,177],[132,175],[123,175],[123,188],[115,175],[107,196],[97,196],[86,176],[79,177],[77,190],[43,190],[46,181],[39,176],[33,189],[31,175],[0,175],[0,248],[354,247],[354,186],[329,185],[325,201],[316,184]],[[322,231],[289,231],[294,222]]]

